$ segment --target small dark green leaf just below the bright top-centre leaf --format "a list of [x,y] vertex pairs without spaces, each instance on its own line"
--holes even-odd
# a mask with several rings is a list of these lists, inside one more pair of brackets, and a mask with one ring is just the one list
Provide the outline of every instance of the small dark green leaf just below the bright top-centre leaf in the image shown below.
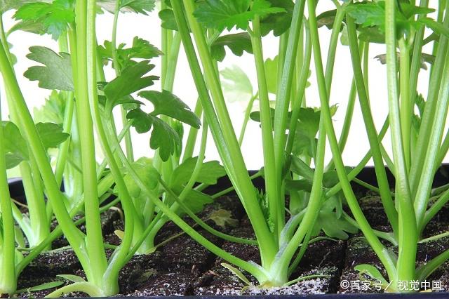
[[223,61],[226,56],[225,46],[227,46],[234,55],[241,56],[243,52],[253,53],[250,35],[246,32],[228,34],[220,36],[210,46],[210,54],[217,61]]

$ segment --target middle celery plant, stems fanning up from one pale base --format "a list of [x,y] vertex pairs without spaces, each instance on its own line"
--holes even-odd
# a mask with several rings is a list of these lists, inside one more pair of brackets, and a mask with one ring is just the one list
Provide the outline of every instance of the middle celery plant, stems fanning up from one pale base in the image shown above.
[[[210,126],[227,175],[239,194],[253,225],[262,265],[255,267],[251,263],[213,248],[205,241],[198,241],[225,260],[253,274],[262,286],[283,286],[288,283],[311,237],[316,234],[314,227],[327,230],[332,237],[347,237],[344,230],[354,232],[355,228],[338,215],[341,203],[339,204],[338,197],[333,196],[338,194],[340,187],[335,186],[334,192],[326,196],[326,188],[335,184],[332,182],[335,173],[326,173],[326,180],[323,180],[326,145],[326,131],[323,127],[326,121],[324,121],[323,112],[327,111],[331,114],[331,107],[326,102],[319,110],[302,108],[311,45],[317,36],[317,32],[311,30],[313,24],[309,25],[304,18],[305,1],[281,3],[256,0],[196,3],[190,0],[173,0],[170,1],[170,5],[172,8],[170,13],[175,16],[175,29],[182,37],[204,117]],[[337,7],[341,22],[344,11],[340,5]],[[168,13],[164,13],[163,21],[166,15]],[[285,22],[290,25],[286,26]],[[328,85],[332,77],[340,26],[341,24],[338,23],[335,26],[334,36],[336,37],[330,45]],[[234,27],[243,32],[225,34],[225,29]],[[278,88],[274,92],[276,93],[274,110],[269,105],[269,88],[267,88],[269,73],[265,69],[266,63],[264,63],[261,43],[262,36],[271,31],[281,36],[278,58],[279,77],[276,79]],[[192,32],[193,40],[189,32]],[[243,50],[254,55],[260,112],[253,114],[253,119],[260,121],[262,128],[263,175],[266,183],[266,193],[262,196],[256,192],[250,180],[239,140],[236,138],[225,106],[225,98],[217,73],[217,60],[222,60],[222,52],[217,50],[219,45],[229,46],[234,53],[240,55]],[[298,51],[298,48],[304,48],[304,51]],[[324,88],[326,90],[326,86]],[[291,112],[290,106],[293,107]],[[328,125],[332,126],[332,123]],[[296,126],[299,131],[295,130]],[[289,135],[286,138],[285,132],[289,128]],[[297,132],[307,132],[309,135],[296,138]],[[316,133],[319,135],[318,140],[315,139]],[[296,142],[294,142],[295,139]],[[294,146],[299,150],[292,154]],[[309,166],[311,160],[314,161],[315,171]],[[290,169],[295,172],[293,179],[290,176]],[[355,175],[355,172],[351,175]],[[288,222],[285,222],[286,192],[290,193],[291,201],[296,201],[291,206],[297,207],[295,211],[290,211],[292,215]],[[334,225],[336,229],[332,230],[325,227],[323,222],[316,221],[321,215],[333,218],[334,224],[337,223]],[[298,250],[298,245],[301,243],[302,247]]]

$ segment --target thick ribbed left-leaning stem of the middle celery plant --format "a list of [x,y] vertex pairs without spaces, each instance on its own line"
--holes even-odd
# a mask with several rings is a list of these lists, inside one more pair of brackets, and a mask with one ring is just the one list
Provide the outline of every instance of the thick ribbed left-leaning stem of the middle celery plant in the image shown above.
[[[215,107],[217,108],[217,114],[215,114],[215,109],[210,100],[208,88],[201,72],[201,67],[196,58],[196,52],[189,34],[189,28],[182,10],[181,2],[180,0],[173,0],[173,12],[175,13],[177,27],[182,36],[182,43],[184,44],[187,53],[187,60],[189,60],[195,85],[199,92],[199,98],[204,113],[206,114],[210,131],[213,134],[215,145],[222,158],[223,165],[225,166],[233,185],[236,187],[236,192],[239,194],[243,206],[248,213],[248,217],[253,224],[257,240],[263,240],[263,242],[260,241],[262,264],[269,265],[276,255],[276,242],[269,231],[267,223],[264,221],[264,215],[259,202],[257,201],[254,186],[249,178],[248,170],[243,161],[239,142],[235,136],[234,130],[232,130],[232,122],[229,119],[225,99],[220,91],[220,80],[215,73],[206,38],[201,26],[196,22],[193,15],[195,9],[194,1],[184,0],[183,3],[185,4],[190,27],[192,28],[194,38],[196,39],[196,46],[199,49],[200,57],[203,60],[203,67],[206,72],[205,77],[210,81],[211,93],[213,95],[212,98]],[[222,128],[225,128],[225,130],[222,130]]]

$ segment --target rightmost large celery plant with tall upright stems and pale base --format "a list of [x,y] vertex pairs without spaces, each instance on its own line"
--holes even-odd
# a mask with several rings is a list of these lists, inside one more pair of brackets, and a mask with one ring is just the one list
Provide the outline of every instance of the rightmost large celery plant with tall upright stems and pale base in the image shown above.
[[[387,291],[410,291],[411,281],[423,281],[448,258],[448,253],[443,252],[429,263],[418,268],[415,266],[417,244],[430,240],[421,238],[422,231],[447,200],[441,195],[434,204],[429,204],[434,175],[448,152],[442,142],[448,112],[448,4],[440,1],[437,8],[440,19],[435,21],[426,16],[434,11],[429,7],[429,1],[421,1],[420,6],[411,1],[363,1],[354,4],[352,1],[348,2],[350,4],[346,8],[346,25],[354,81],[373,153],[382,204],[392,228],[392,232],[388,233],[389,239],[398,246],[396,256],[373,234],[347,184],[343,165],[338,161],[341,160],[340,152],[335,142],[330,139],[340,182],[346,185],[343,190],[349,207],[366,239],[382,261],[389,283],[370,265],[358,265],[356,269],[384,281]],[[312,6],[310,4],[310,7]],[[426,55],[422,50],[424,43],[428,42],[428,39],[424,39],[425,27],[438,34],[438,41],[434,44],[436,57],[429,76],[427,100],[417,91],[417,79]],[[368,32],[370,34],[367,34]],[[362,71],[358,40],[386,45],[392,160],[384,150],[373,124],[368,74],[363,74]],[[322,100],[323,98],[325,97],[322,96]],[[417,110],[421,109],[420,115],[415,115],[415,107]],[[396,178],[394,199],[390,194],[384,161]],[[438,237],[443,236],[431,239]]]

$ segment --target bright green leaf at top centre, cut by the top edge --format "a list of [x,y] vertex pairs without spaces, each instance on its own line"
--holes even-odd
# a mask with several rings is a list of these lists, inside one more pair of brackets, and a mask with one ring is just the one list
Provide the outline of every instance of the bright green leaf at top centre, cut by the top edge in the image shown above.
[[247,29],[255,15],[264,17],[271,13],[283,13],[283,8],[272,7],[267,0],[206,0],[199,4],[194,15],[206,27],[219,30]]

